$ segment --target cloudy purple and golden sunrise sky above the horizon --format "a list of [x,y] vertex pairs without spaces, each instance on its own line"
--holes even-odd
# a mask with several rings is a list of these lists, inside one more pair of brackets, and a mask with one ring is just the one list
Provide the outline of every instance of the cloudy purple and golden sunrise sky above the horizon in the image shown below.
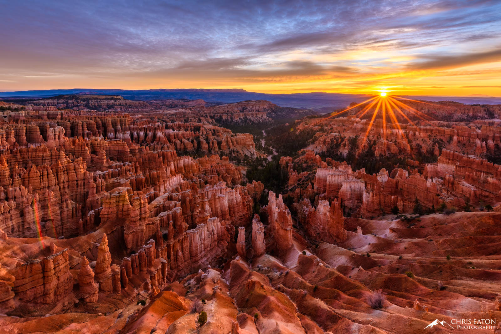
[[0,0],[0,91],[501,96],[500,0]]

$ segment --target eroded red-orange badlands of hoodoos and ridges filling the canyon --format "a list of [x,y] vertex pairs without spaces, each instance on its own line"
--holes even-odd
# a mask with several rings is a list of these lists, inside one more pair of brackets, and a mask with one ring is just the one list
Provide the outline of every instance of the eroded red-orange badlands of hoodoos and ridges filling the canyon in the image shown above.
[[501,332],[501,105],[401,102],[0,101],[0,331]]

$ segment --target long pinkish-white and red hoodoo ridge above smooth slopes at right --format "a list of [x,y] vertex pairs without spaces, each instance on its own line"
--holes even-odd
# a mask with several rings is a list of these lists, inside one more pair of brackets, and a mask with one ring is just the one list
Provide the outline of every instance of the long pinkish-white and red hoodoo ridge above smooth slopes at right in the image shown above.
[[[451,158],[447,157],[449,155]],[[499,182],[497,167],[492,168],[492,164],[485,165],[474,158],[463,159],[463,164],[457,162],[457,166],[479,163],[482,167],[478,168],[485,170],[484,174],[473,170],[470,173],[466,171],[469,167],[456,169],[453,161],[460,159],[463,159],[461,155],[451,155],[443,150],[438,164],[426,165],[424,176],[433,177],[428,179],[420,176],[417,171],[408,176],[408,172],[400,168],[393,169],[391,175],[385,169],[373,175],[366,174],[364,170],[353,173],[349,167],[343,167],[343,164],[337,169],[318,168],[315,189],[321,193],[319,199],[332,199],[338,193],[343,199],[343,205],[352,214],[356,212],[363,217],[389,213],[395,206],[399,212],[412,212],[416,199],[428,210],[436,209],[442,203],[462,207],[465,205],[463,198],[471,203],[496,200],[499,196],[495,185]],[[487,171],[488,168],[490,172]],[[485,173],[490,176],[485,176]],[[311,195],[305,197],[311,198]]]

